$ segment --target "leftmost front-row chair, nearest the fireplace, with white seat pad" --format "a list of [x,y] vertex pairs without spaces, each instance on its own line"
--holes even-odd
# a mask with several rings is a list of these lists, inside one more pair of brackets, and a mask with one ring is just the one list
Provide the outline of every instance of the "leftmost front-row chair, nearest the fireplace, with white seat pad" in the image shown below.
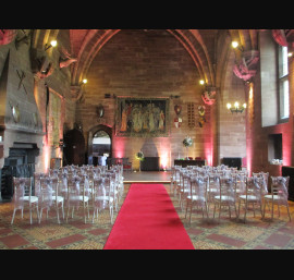
[[23,218],[24,208],[29,209],[30,224],[33,224],[33,216],[32,216],[33,209],[36,209],[37,218],[39,218],[39,210],[38,210],[39,198],[37,196],[32,195],[32,182],[33,178],[13,178],[14,194],[12,202],[14,209],[11,224],[13,224],[16,210],[22,211]]

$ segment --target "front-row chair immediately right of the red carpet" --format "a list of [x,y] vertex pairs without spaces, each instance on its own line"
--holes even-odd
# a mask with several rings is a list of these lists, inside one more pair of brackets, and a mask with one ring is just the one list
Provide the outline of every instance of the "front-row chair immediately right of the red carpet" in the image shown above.
[[206,211],[207,218],[209,218],[208,215],[208,205],[207,205],[207,195],[206,195],[206,182],[203,176],[189,176],[188,179],[189,183],[189,192],[186,196],[186,214],[185,218],[187,216],[187,210],[189,209],[189,223],[192,219],[192,210],[193,206],[196,205],[197,207],[201,207],[203,210],[203,218],[204,218],[204,209]]

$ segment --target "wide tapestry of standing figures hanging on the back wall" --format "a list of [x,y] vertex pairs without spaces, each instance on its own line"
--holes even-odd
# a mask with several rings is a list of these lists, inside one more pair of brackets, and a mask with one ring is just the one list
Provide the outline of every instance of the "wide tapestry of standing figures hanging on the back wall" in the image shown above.
[[115,134],[126,137],[167,137],[169,98],[117,98]]

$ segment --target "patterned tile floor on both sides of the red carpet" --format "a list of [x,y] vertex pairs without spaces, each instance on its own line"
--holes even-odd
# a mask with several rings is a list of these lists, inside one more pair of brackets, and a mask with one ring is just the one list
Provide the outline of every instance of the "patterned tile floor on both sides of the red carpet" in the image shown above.
[[[168,193],[170,186],[164,185]],[[123,199],[119,209],[114,211],[114,220],[121,205],[128,192],[130,184],[125,184]],[[235,219],[234,214],[229,218],[228,211],[223,211],[220,222],[218,218],[203,219],[200,210],[194,210],[192,222],[185,219],[185,211],[181,211],[176,198],[171,195],[173,205],[181,218],[186,232],[195,249],[293,249],[294,248],[294,203],[290,202],[292,221],[289,221],[285,207],[281,207],[281,215],[278,217],[278,208],[274,210],[274,219],[270,219],[267,211],[265,220],[260,214],[253,211],[247,214],[246,223]],[[29,214],[24,211],[24,219],[21,219],[20,211],[16,212],[14,223],[11,226],[12,204],[0,204],[0,249],[102,249],[111,232],[112,224],[108,210],[99,215],[95,223],[84,223],[82,211],[69,222],[58,224],[56,211],[49,212],[46,220],[44,215],[40,224],[37,223],[34,214],[34,223],[29,224]],[[243,217],[244,211],[241,212]],[[218,217],[218,212],[217,216]],[[91,212],[90,212],[91,221]]]

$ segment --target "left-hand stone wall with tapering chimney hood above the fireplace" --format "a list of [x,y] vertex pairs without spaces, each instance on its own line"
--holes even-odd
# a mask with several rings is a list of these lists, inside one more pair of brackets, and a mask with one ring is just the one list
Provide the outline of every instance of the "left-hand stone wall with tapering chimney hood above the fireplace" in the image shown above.
[[[23,37],[23,32],[19,31],[17,36],[16,38]],[[0,46],[0,120],[4,144],[4,155],[0,159],[0,168],[3,166],[4,158],[9,156],[9,148],[14,142],[37,143],[40,155],[36,159],[36,171],[46,171],[51,157],[62,156],[58,149],[52,145],[48,146],[46,142],[46,123],[48,123],[46,119],[49,118],[48,110],[46,110],[47,88],[63,100],[63,106],[60,108],[60,120],[57,124],[60,127],[60,138],[63,135],[63,124],[66,123],[71,129],[75,122],[75,102],[72,100],[70,92],[70,69],[59,68],[60,48],[70,48],[69,32],[61,31],[57,39],[59,41],[57,49],[51,48],[47,52],[42,52],[53,65],[52,74],[45,78],[39,78],[33,72],[29,40],[28,44],[20,44],[17,48],[14,41]],[[7,70],[3,70],[5,61]],[[20,84],[22,75],[25,77]],[[15,122],[12,117],[11,108],[13,106],[20,110],[19,122]],[[37,122],[34,120],[34,114]]]

